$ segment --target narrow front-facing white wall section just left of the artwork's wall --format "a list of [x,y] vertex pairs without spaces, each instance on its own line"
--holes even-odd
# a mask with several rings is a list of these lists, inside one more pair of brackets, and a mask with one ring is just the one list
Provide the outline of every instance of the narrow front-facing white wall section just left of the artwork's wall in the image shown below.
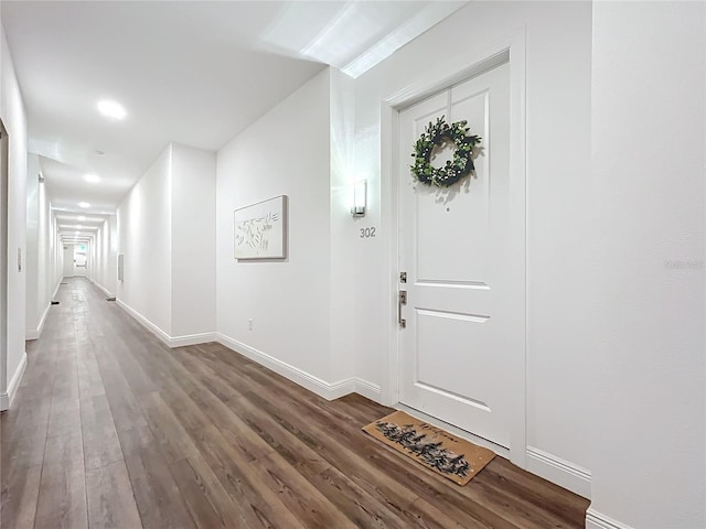
[[216,328],[216,154],[172,144],[172,335]]

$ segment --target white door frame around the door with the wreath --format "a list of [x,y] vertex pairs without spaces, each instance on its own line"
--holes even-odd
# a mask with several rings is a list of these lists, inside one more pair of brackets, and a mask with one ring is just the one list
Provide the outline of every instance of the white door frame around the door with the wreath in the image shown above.
[[[448,64],[429,72],[428,76],[414,82],[403,89],[389,94],[381,101],[381,202],[382,222],[389,226],[387,245],[389,248],[387,278],[389,320],[388,364],[384,370],[386,379],[382,387],[383,403],[405,408],[399,402],[399,327],[397,324],[397,292],[399,262],[399,192],[397,186],[399,112],[427,97],[451,86],[480,75],[503,63],[510,64],[510,172],[524,186],[524,202],[520,216],[524,218],[525,231],[522,239],[524,256],[523,289],[523,334],[524,347],[509,374],[513,388],[512,424],[510,434],[510,460],[521,468],[526,467],[527,412],[526,412],[526,354],[527,354],[527,171],[526,171],[526,30],[510,33],[484,46],[454,56]],[[432,80],[428,80],[432,79]]]

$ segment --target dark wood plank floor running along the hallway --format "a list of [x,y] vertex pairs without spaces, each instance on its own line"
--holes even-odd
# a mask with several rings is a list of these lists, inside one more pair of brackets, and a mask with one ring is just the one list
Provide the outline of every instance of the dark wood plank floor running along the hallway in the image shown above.
[[588,503],[496,457],[466,487],[218,345],[169,349],[85,280],[2,414],[3,528],[580,528]]

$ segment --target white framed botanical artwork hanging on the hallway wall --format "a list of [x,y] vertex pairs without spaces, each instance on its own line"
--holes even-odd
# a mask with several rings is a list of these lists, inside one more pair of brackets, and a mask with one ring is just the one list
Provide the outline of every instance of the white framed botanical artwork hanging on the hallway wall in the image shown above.
[[234,212],[235,258],[287,258],[287,195]]

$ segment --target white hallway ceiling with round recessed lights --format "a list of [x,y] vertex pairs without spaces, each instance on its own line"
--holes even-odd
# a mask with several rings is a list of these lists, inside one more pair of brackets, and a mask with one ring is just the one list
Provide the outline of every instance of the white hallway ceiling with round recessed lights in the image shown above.
[[361,75],[464,3],[3,0],[1,20],[60,227],[89,237],[78,215],[115,213],[169,142],[217,150],[327,65]]

